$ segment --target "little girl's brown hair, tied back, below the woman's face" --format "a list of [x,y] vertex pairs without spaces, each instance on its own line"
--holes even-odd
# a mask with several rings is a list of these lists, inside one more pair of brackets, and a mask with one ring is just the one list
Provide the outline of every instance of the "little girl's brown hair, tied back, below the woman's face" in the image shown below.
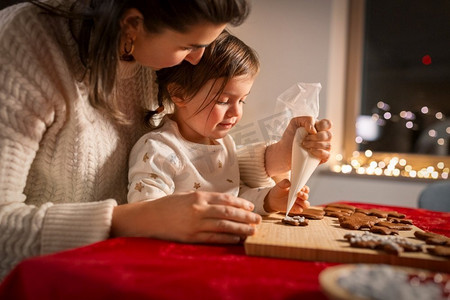
[[[190,101],[200,89],[209,81],[214,80],[211,90],[218,79],[223,79],[218,92],[207,102],[205,99],[198,112],[215,101],[227,83],[237,76],[254,77],[259,72],[259,59],[257,53],[228,31],[223,31],[219,37],[206,47],[203,57],[197,65],[187,61],[181,64],[161,69],[156,72],[158,77],[158,104],[170,105],[171,95]],[[208,95],[209,95],[208,93]],[[209,97],[207,97],[209,98]],[[152,117],[157,111],[149,111],[146,121],[155,127]]]

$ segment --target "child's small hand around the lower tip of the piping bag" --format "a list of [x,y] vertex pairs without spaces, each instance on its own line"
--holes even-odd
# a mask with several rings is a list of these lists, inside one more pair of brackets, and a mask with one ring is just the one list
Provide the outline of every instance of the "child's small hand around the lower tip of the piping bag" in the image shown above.
[[[267,212],[286,212],[291,183],[288,179],[278,182],[264,199],[264,210]],[[309,187],[304,186],[297,193],[297,200],[291,208],[292,213],[301,213],[309,207]]]

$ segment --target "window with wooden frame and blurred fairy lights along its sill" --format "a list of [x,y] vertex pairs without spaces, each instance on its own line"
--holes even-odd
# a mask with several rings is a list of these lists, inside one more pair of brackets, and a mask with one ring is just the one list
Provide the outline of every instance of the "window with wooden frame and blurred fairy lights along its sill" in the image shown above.
[[345,172],[448,178],[449,49],[448,0],[350,1]]

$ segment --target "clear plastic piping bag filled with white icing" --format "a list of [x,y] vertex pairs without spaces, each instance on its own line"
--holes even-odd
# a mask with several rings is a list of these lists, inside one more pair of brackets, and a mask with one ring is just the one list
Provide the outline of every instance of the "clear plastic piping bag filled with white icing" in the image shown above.
[[[321,89],[320,83],[297,83],[283,92],[277,100],[283,103],[293,116],[312,116],[315,122],[319,115],[319,92]],[[286,216],[289,215],[297,200],[297,193],[309,180],[320,162],[320,159],[302,147],[302,141],[306,135],[308,133],[305,128],[298,128],[292,143],[291,188]]]

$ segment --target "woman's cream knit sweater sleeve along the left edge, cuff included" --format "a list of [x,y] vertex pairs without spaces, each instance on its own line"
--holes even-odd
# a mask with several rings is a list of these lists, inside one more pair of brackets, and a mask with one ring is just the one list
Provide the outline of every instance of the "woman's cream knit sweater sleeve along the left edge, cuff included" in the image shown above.
[[57,116],[65,115],[58,86],[72,77],[62,56],[50,49],[55,47],[46,40],[50,28],[37,22],[35,14],[13,16],[23,7],[0,11],[0,278],[26,257],[108,238],[116,205],[114,200],[26,202],[25,187],[40,143],[48,130],[57,130]]

